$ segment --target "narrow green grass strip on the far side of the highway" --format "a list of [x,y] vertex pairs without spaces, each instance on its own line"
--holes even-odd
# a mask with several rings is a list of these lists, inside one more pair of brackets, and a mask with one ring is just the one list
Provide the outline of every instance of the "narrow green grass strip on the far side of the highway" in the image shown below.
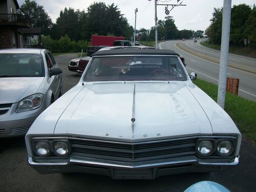
[[[200,44],[211,49],[221,50],[220,45],[209,44],[208,42],[205,42],[205,41],[201,41]],[[248,45],[246,48],[229,46],[229,53],[256,58],[256,48],[248,47]]]

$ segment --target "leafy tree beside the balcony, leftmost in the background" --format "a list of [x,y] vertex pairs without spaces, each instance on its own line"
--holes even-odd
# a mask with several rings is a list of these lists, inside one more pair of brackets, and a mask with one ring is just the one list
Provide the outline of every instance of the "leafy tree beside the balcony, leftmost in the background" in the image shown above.
[[53,25],[51,17],[45,12],[44,7],[35,1],[25,0],[20,6],[20,12],[25,14],[31,22],[32,27],[41,27],[44,34],[49,34]]

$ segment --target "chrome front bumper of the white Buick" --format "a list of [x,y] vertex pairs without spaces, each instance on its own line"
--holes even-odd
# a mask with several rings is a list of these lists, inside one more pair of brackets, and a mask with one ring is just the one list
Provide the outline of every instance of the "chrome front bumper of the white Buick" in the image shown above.
[[237,165],[239,157],[232,162],[203,162],[195,156],[176,157],[172,160],[154,160],[147,162],[123,163],[92,158],[71,156],[58,162],[36,162],[28,158],[30,166],[41,174],[50,173],[89,173],[112,177],[113,179],[155,179],[164,175],[181,173],[213,172],[225,167]]

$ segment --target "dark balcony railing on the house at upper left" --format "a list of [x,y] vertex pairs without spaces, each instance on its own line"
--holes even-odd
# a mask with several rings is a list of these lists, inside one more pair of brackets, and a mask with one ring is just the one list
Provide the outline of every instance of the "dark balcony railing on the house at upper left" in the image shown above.
[[25,15],[0,13],[0,25],[17,25],[31,27],[30,20]]

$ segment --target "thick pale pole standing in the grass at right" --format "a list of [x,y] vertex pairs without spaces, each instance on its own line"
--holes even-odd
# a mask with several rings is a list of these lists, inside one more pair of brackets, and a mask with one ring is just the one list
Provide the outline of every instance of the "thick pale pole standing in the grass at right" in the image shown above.
[[217,99],[217,103],[221,106],[222,109],[224,109],[224,106],[225,106],[225,95],[226,95],[230,18],[231,18],[231,0],[224,0],[223,15],[222,15],[222,32],[221,32],[220,72],[219,72],[218,99]]

